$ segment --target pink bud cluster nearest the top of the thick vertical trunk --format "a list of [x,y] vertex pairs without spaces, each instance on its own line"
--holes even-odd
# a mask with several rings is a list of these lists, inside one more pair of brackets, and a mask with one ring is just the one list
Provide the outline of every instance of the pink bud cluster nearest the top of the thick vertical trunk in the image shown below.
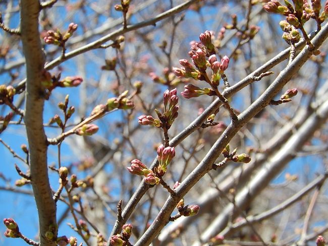
[[63,34],[61,31],[57,30],[56,32],[49,30],[46,33],[46,36],[43,38],[44,42],[47,44],[54,44],[58,46],[65,46],[66,41],[73,35],[77,30],[78,25],[75,23],[70,23],[67,31]]

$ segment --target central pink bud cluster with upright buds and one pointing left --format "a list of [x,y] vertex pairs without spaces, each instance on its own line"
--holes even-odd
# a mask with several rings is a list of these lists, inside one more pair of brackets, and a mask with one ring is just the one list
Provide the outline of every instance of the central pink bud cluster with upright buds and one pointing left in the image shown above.
[[165,127],[166,129],[170,129],[174,120],[178,117],[178,102],[179,97],[177,96],[177,88],[164,91],[164,112],[160,113],[155,109],[158,119],[153,118],[151,115],[141,115],[138,117],[138,123],[140,125],[151,125],[159,128]]

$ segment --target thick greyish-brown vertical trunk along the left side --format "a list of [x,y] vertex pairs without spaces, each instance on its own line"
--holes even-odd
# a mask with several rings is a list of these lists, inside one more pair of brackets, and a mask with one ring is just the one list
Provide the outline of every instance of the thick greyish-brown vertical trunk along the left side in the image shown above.
[[31,183],[39,215],[40,245],[56,245],[45,237],[49,226],[56,225],[56,204],[48,180],[47,143],[43,129],[41,74],[44,54],[38,30],[39,10],[39,1],[21,1],[21,33],[27,76],[24,121],[30,151]]

